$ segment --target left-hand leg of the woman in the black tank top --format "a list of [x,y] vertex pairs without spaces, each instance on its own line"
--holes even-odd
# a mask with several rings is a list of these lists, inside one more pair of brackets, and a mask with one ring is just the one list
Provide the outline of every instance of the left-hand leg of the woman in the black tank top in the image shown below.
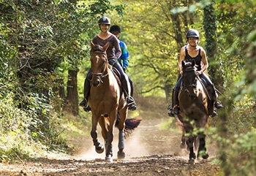
[[168,107],[168,110],[170,110],[170,112],[168,112],[168,115],[170,117],[174,117],[174,115],[179,114],[178,91],[179,91],[180,87],[181,87],[181,76],[178,77],[178,81],[173,88],[172,104],[171,104],[171,107]]

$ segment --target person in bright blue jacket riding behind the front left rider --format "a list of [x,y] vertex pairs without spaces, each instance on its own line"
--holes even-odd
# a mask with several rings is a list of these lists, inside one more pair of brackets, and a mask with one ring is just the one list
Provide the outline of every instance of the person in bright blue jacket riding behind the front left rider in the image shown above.
[[[124,72],[126,72],[127,67],[129,65],[129,51],[127,48],[127,45],[119,39],[121,28],[118,25],[113,25],[110,27],[110,32],[118,38],[119,46],[121,48],[121,56],[118,58],[118,63],[121,64],[121,67],[123,68]],[[131,85],[131,96],[133,96],[133,83],[132,80],[129,78],[129,84]]]

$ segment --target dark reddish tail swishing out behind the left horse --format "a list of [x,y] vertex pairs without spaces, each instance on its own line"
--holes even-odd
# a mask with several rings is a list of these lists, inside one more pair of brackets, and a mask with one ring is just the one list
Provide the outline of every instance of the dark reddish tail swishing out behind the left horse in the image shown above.
[[[136,129],[140,125],[141,120],[142,119],[140,117],[127,118],[127,120],[125,120],[125,129],[124,129],[125,136],[129,136],[129,134],[132,133],[132,130]],[[116,118],[115,126],[118,126],[119,122],[120,122],[120,115],[118,114]]]

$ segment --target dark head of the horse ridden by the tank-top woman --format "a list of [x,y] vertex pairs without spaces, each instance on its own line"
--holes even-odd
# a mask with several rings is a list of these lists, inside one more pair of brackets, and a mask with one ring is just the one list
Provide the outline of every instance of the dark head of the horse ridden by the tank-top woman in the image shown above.
[[197,88],[197,74],[195,73],[195,61],[182,61],[183,89],[189,92],[189,96],[195,99]]

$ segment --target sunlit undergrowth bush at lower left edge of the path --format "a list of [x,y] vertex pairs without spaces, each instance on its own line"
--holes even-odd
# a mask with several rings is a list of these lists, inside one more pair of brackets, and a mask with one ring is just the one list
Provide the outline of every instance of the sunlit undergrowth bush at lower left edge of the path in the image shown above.
[[[12,92],[0,93],[0,161],[22,160],[38,156],[48,150],[65,152],[66,142],[61,137],[61,127],[51,120],[50,106],[38,96],[26,96],[26,109],[17,107]],[[48,129],[38,112],[48,115]]]

